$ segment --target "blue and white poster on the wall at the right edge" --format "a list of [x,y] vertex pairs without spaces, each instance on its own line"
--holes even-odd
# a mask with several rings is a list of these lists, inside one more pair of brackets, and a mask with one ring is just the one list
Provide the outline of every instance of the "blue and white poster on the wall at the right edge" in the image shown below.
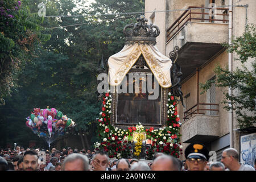
[[254,167],[254,160],[256,159],[256,133],[241,136],[240,144],[241,163]]

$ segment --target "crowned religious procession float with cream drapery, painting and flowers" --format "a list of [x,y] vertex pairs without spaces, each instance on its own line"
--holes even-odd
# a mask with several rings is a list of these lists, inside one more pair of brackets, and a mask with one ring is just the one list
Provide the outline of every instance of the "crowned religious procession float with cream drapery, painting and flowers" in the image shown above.
[[102,60],[108,65],[108,81],[100,95],[100,140],[94,147],[110,158],[150,160],[155,152],[176,158],[182,154],[177,115],[177,102],[183,102],[182,73],[175,63],[179,48],[170,52],[170,58],[160,53],[155,46],[159,28],[146,22],[141,15],[137,23],[126,25],[123,49],[108,63]]

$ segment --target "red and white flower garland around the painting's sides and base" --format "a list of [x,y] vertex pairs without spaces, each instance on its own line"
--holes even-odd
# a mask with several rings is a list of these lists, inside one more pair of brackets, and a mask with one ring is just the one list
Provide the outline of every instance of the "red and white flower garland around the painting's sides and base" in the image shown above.
[[166,126],[159,129],[154,129],[154,127],[144,129],[141,124],[136,127],[129,127],[127,130],[113,127],[110,125],[112,96],[109,93],[105,93],[102,99],[102,111],[98,118],[98,137],[100,142],[94,143],[96,150],[108,152],[110,158],[127,158],[133,152],[128,143],[133,141],[134,132],[139,131],[138,142],[135,144],[135,156],[141,154],[141,138],[143,136],[142,133],[145,132],[146,139],[151,143],[151,147],[146,147],[148,159],[152,159],[152,155],[155,152],[164,152],[176,158],[180,157],[182,154],[181,135],[179,133],[181,123],[179,115],[177,115],[177,102],[171,93],[168,93]]

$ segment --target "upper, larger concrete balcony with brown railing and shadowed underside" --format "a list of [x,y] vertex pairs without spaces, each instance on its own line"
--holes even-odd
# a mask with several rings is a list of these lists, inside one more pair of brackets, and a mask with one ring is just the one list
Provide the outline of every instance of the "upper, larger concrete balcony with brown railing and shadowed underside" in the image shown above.
[[208,13],[198,8],[189,6],[167,29],[166,51],[180,47],[177,64],[183,72],[183,80],[196,68],[208,63],[214,55],[223,52],[222,43],[228,42],[228,14],[225,13],[228,9],[217,9],[223,13],[213,19],[207,18]]

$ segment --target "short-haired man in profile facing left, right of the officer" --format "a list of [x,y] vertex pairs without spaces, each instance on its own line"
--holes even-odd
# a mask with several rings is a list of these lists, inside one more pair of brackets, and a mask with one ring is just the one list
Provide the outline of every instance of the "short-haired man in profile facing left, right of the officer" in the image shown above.
[[239,162],[239,154],[234,148],[227,148],[222,152],[221,162],[226,167],[226,171],[255,171],[252,166]]

